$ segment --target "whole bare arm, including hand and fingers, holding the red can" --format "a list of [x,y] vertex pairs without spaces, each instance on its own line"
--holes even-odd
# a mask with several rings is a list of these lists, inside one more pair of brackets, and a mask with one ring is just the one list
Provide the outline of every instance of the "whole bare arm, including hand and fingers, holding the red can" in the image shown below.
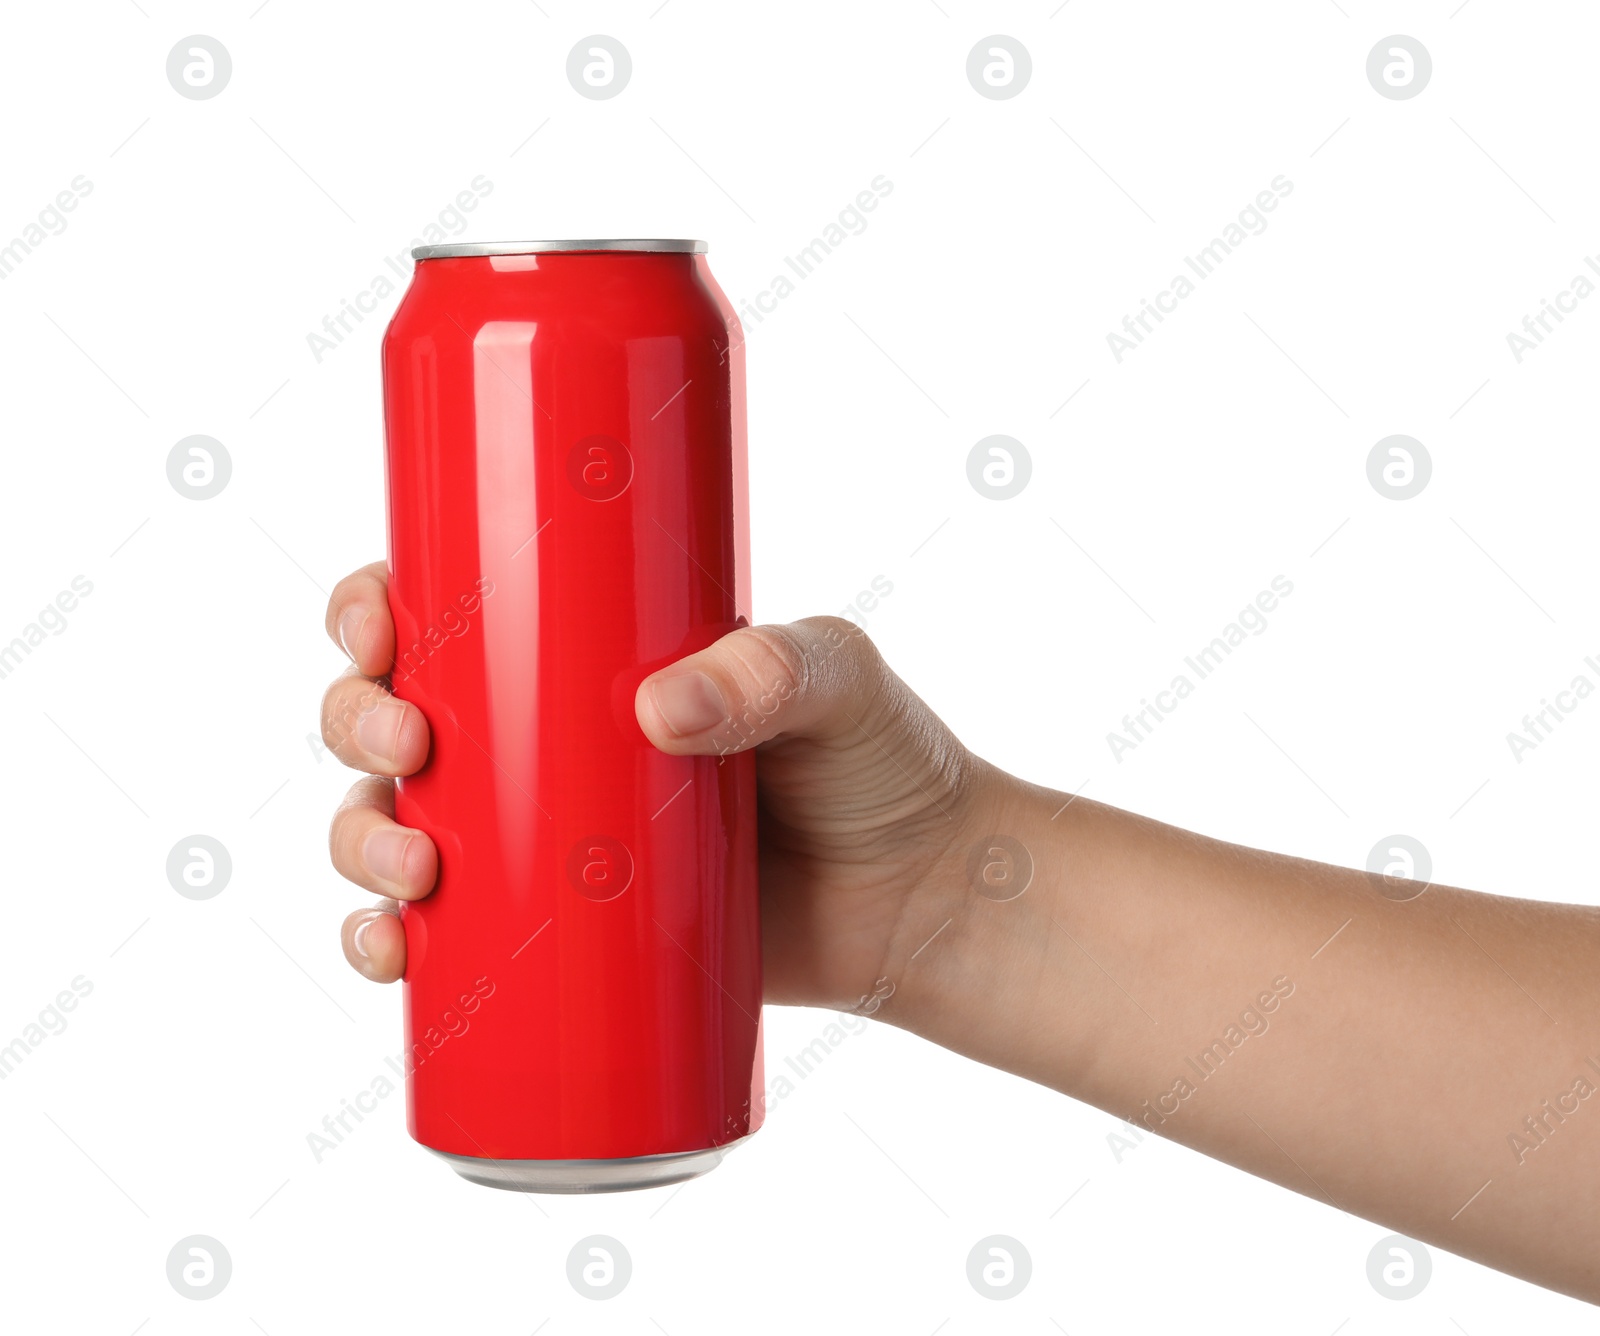
[[[397,901],[438,861],[394,822],[429,734],[378,683],[381,562],[328,632],[354,666],[323,736],[368,773],[333,862],[384,898],[344,952],[390,982]],[[635,712],[664,752],[757,749],[768,1002],[848,1011],[888,984],[880,1021],[1600,1302],[1600,910],[1413,894],[1014,779],[834,618],[736,630]]]

